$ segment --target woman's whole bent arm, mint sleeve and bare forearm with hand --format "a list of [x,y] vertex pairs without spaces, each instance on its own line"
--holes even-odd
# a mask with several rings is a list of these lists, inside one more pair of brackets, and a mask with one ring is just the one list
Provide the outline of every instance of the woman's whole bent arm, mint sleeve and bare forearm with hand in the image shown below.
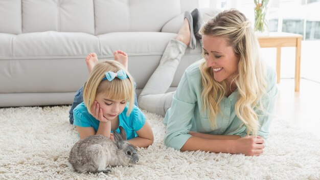
[[164,122],[167,126],[165,145],[181,151],[201,150],[260,155],[264,148],[264,139],[260,137],[240,138],[240,136],[215,136],[190,132],[196,103],[202,103],[198,98],[201,97],[201,76],[194,66],[188,68],[182,75],[172,98],[171,108],[165,116]]

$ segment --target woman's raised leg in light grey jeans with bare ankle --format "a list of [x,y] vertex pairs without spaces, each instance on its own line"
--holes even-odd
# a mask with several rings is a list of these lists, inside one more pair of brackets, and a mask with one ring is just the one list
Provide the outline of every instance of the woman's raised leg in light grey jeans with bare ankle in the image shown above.
[[[191,25],[192,26],[192,25]],[[139,107],[165,116],[171,106],[174,92],[166,93],[170,87],[177,66],[190,43],[190,25],[185,18],[175,39],[171,39],[160,63],[139,96]]]

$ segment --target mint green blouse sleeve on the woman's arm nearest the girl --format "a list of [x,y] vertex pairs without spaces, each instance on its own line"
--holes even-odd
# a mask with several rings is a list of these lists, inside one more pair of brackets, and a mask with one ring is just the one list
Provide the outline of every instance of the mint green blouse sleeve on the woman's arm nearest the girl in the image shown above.
[[191,85],[187,72],[181,77],[176,93],[172,98],[172,105],[164,119],[167,125],[165,145],[179,150],[191,137],[189,134],[193,117],[196,93]]

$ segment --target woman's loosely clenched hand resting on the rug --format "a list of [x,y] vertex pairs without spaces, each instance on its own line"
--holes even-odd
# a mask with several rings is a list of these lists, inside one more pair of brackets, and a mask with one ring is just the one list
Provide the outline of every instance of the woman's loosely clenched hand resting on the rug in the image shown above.
[[244,155],[261,155],[264,149],[264,139],[260,136],[246,136],[236,140],[235,153]]

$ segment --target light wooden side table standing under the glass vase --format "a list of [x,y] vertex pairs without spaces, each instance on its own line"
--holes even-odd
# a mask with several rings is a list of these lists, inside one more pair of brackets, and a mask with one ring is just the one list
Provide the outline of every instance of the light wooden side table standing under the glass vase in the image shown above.
[[277,48],[277,83],[280,82],[281,48],[295,47],[294,91],[300,91],[300,63],[302,35],[293,33],[270,32],[268,36],[259,36],[261,48]]

